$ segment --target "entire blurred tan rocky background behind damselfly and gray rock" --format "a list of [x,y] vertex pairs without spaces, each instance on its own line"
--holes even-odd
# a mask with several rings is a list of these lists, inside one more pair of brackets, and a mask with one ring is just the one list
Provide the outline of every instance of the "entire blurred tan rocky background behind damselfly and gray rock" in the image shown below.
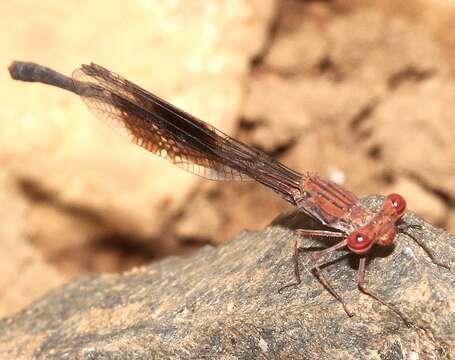
[[[398,192],[455,231],[455,2],[2,2],[0,317],[71,278],[261,229],[285,209],[129,144],[12,60],[96,62],[301,172]],[[290,247],[291,248],[291,247]]]

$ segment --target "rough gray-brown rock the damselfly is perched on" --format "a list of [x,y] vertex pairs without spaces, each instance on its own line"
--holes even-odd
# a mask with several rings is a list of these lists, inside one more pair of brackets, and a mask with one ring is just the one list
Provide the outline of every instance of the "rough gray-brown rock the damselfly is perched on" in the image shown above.
[[[377,206],[379,199],[369,202]],[[411,213],[406,220],[423,226],[427,246],[453,269],[455,236]],[[410,327],[357,290],[356,262],[343,252],[324,273],[354,317],[305,270],[306,254],[302,284],[278,294],[293,280],[291,229],[308,222],[300,214],[283,215],[219,248],[57,288],[0,322],[0,358],[454,358],[455,274],[432,264],[405,235],[391,251],[375,253],[367,281]]]

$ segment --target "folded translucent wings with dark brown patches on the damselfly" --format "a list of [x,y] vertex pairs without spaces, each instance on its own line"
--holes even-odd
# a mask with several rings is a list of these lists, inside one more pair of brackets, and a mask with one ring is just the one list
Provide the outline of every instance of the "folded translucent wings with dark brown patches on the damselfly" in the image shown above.
[[96,64],[73,72],[89,109],[127,140],[212,180],[255,179],[294,203],[301,175]]

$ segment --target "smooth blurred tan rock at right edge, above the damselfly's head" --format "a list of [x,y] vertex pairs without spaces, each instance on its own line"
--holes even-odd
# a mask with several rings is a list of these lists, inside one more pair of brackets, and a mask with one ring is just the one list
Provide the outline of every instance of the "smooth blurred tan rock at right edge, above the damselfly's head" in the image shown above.
[[404,85],[376,108],[369,141],[389,169],[421,178],[455,199],[455,86],[436,77]]

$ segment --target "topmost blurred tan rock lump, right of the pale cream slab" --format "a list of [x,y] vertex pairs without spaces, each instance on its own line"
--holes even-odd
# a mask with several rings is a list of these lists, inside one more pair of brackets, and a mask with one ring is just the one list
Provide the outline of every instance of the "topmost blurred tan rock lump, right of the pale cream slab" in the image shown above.
[[[323,21],[311,12],[302,16],[292,31],[278,31],[276,45],[265,58],[267,66],[288,77],[347,79],[368,87],[369,93],[383,94],[389,79],[403,69],[448,73],[444,53],[431,34],[406,18],[361,6],[326,15]],[[288,45],[292,41],[293,48]]]

